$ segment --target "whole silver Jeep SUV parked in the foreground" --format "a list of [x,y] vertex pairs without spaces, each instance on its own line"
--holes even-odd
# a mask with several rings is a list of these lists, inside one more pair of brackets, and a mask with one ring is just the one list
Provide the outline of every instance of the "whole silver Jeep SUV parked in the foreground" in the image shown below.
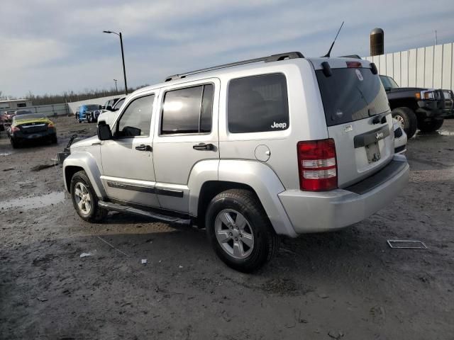
[[278,235],[343,228],[391,202],[409,178],[392,129],[375,64],[289,52],[135,91],[72,145],[65,186],[84,220],[116,210],[194,222],[248,272]]

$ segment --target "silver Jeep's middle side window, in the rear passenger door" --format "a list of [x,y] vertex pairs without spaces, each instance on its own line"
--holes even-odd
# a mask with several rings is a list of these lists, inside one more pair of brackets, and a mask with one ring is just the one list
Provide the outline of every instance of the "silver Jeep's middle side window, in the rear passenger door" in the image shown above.
[[213,84],[167,91],[162,106],[161,134],[211,132]]

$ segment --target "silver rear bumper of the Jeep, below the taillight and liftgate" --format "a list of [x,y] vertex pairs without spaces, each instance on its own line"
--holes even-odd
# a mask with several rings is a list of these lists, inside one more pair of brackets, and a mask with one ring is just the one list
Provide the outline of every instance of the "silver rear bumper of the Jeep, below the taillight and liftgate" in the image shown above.
[[384,169],[349,188],[289,190],[279,193],[279,200],[297,234],[328,232],[365,220],[399,195],[408,179],[406,158],[395,155]]

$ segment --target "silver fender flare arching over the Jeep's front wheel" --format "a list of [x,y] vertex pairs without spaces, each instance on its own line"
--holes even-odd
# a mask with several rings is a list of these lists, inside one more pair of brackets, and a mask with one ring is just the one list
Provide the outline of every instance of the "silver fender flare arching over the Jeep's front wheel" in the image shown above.
[[89,152],[72,152],[63,162],[63,178],[65,179],[65,188],[67,191],[70,191],[70,188],[67,187],[66,181],[66,169],[68,166],[78,166],[87,173],[87,176],[92,183],[94,192],[99,198],[106,197],[106,191],[101,182],[101,172],[99,167],[96,164],[96,160],[93,158],[92,154]]

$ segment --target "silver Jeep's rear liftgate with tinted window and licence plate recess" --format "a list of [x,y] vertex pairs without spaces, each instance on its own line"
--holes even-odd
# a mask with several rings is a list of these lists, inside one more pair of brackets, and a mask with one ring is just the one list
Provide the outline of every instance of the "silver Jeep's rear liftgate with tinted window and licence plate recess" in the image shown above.
[[345,188],[394,156],[392,116],[382,82],[367,62],[329,62],[331,76],[316,69],[316,77],[328,135],[336,143],[338,186]]

